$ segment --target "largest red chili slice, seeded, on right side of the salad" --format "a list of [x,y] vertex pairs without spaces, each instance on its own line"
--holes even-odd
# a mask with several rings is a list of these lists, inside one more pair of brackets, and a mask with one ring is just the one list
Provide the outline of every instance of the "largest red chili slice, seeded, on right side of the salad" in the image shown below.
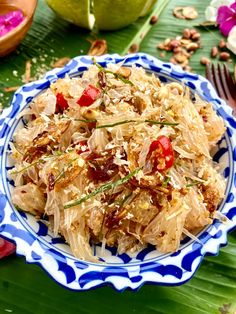
[[149,147],[147,158],[153,162],[154,171],[165,171],[173,166],[174,151],[169,137],[159,136]]

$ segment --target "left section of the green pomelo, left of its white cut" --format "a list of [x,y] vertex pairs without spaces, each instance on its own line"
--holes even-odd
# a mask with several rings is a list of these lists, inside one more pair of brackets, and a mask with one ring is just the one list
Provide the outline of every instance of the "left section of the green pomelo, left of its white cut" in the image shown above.
[[90,0],[46,0],[50,8],[65,20],[92,29],[94,16],[90,14]]

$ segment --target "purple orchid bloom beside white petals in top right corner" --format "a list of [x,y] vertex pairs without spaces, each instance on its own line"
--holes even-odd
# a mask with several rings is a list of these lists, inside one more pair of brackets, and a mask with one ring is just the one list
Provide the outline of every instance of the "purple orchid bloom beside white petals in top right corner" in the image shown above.
[[223,5],[217,12],[217,24],[224,36],[228,36],[230,30],[236,25],[236,1],[229,7]]

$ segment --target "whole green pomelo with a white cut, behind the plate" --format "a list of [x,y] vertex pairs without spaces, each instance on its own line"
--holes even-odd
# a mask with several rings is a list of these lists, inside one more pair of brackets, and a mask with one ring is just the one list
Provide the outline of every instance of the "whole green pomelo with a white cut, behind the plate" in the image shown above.
[[[46,0],[65,20],[92,29],[115,30],[129,25],[153,8],[156,0]],[[93,5],[93,14],[90,9]]]

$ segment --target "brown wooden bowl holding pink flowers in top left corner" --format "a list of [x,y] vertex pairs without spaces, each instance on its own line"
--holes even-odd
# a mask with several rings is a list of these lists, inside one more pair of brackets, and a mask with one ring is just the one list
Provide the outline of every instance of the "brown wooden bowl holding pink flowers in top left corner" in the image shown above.
[[13,30],[0,37],[0,57],[14,51],[29,30],[38,0],[1,0],[0,14],[20,9],[25,19]]

